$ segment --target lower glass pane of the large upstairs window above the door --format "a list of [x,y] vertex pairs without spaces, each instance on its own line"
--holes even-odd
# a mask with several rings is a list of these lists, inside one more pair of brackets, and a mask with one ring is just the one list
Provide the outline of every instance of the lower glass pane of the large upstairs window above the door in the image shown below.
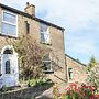
[[2,34],[16,35],[16,26],[2,22]]

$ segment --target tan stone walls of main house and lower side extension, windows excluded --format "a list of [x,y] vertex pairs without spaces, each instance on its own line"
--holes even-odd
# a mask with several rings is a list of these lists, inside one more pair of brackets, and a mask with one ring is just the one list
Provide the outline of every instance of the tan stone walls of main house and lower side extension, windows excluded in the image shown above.
[[[2,15],[3,12],[11,12],[16,15],[16,36],[4,35],[1,33],[2,28]],[[65,55],[64,48],[64,29],[41,20],[35,16],[35,6],[26,3],[24,12],[16,9],[3,6],[0,3],[0,52],[9,42],[20,38],[22,35],[26,35],[25,22],[29,24],[29,34],[33,36],[40,44],[45,44],[51,48],[51,57],[56,64],[52,63],[53,73],[46,74],[47,78],[59,84],[81,81],[86,79],[86,66],[78,63],[76,59],[68,55]],[[48,26],[50,42],[41,43],[40,26],[41,23]],[[57,57],[57,61],[55,57]],[[1,63],[1,62],[0,62]],[[1,72],[1,69],[0,69]],[[0,73],[1,74],[1,73]]]

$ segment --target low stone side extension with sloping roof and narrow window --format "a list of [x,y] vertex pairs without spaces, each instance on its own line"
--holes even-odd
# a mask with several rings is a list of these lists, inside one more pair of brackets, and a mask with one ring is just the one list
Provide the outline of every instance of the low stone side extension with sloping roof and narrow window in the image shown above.
[[65,54],[68,82],[86,82],[87,66]]

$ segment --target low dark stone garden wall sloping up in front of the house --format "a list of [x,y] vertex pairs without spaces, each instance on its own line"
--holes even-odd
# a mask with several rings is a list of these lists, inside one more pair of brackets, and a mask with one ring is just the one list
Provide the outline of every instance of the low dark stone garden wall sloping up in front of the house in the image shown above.
[[[0,99],[36,99],[35,97],[51,88],[53,84],[43,84],[30,88],[0,94]],[[47,96],[48,97],[48,96]],[[48,99],[48,98],[47,98]],[[51,99],[51,98],[50,98]]]

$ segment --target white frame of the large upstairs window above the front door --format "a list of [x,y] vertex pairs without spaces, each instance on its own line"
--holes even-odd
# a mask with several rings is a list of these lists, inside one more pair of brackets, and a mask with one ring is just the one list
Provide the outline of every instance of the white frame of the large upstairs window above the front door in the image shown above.
[[[16,18],[15,24],[13,24],[13,23],[11,23],[11,22],[8,22],[8,21],[4,21],[4,20],[3,20],[3,14],[4,14],[4,13],[15,15],[15,18]],[[15,14],[15,13],[13,13],[13,12],[10,12],[10,11],[7,11],[7,10],[3,10],[3,11],[2,11],[2,16],[1,16],[1,28],[2,28],[2,23],[7,23],[7,24],[9,24],[9,25],[16,26],[16,34],[15,34],[15,35],[7,34],[7,33],[4,34],[4,33],[2,33],[2,29],[1,29],[1,34],[8,35],[8,36],[18,37],[18,14]]]

